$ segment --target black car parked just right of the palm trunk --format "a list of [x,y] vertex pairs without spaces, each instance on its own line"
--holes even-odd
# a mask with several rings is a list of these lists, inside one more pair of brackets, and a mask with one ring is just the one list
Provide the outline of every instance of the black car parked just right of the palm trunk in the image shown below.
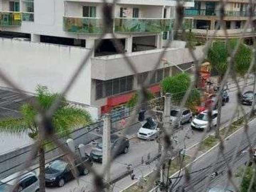
[[[88,162],[89,165],[92,166],[92,162],[90,162],[90,158],[88,156],[82,158],[82,161],[75,161],[76,170],[80,175],[87,175],[90,171],[89,169],[84,168],[85,162]],[[72,179],[74,179],[72,167],[64,160],[54,160],[45,168],[46,186],[62,187],[66,182]]]

